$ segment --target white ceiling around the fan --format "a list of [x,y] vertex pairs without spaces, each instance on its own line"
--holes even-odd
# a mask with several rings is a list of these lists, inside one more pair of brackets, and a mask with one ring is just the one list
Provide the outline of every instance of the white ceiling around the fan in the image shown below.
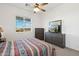
[[[10,3],[9,5],[15,6],[17,8],[25,9],[27,11],[33,11],[33,3],[28,3],[29,6],[25,6],[25,3]],[[48,3],[48,5],[45,6],[46,11],[50,11],[51,9],[54,9],[55,7],[61,5],[62,3]]]

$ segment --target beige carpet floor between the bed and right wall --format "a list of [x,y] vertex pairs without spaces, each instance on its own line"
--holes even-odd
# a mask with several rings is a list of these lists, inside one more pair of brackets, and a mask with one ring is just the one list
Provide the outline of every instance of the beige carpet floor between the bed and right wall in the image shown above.
[[79,51],[70,48],[60,48],[55,45],[53,47],[56,49],[56,56],[79,56]]

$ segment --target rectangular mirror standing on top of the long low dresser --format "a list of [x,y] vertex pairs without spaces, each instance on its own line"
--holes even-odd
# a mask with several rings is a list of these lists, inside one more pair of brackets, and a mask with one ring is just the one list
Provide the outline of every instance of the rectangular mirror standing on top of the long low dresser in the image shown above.
[[49,32],[61,33],[62,20],[50,21],[48,26]]

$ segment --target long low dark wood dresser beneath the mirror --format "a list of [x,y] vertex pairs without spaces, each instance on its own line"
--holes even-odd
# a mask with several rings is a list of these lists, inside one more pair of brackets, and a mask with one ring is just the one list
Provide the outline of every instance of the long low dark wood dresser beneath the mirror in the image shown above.
[[65,35],[64,34],[46,32],[45,33],[45,41],[55,44],[59,47],[65,48]]

